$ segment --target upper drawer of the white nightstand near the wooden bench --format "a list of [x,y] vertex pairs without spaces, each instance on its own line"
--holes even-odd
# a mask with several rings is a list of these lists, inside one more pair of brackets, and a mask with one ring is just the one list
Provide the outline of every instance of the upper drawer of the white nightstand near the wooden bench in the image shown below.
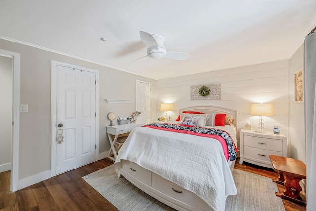
[[[244,135],[243,144],[245,146],[255,147],[259,149],[282,152],[282,139],[271,139],[271,138],[255,137],[251,135]],[[268,155],[268,160],[269,160],[269,155]]]

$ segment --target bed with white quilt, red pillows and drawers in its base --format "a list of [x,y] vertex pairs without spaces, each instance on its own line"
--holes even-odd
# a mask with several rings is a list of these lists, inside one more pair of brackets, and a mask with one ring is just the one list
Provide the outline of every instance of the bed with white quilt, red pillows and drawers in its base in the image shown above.
[[[179,211],[224,211],[226,197],[237,194],[232,177],[237,111],[193,106],[180,109],[179,114],[180,122],[152,123],[132,130],[114,163],[118,177],[124,176]],[[214,121],[216,114],[226,114],[233,121],[225,126],[183,125],[187,119],[203,119],[196,116],[213,117]]]

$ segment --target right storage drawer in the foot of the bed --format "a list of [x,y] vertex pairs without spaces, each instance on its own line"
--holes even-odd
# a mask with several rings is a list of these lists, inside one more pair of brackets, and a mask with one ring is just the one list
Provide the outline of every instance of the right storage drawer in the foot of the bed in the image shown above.
[[201,210],[208,210],[209,205],[196,194],[152,172],[152,187],[174,199],[186,202]]

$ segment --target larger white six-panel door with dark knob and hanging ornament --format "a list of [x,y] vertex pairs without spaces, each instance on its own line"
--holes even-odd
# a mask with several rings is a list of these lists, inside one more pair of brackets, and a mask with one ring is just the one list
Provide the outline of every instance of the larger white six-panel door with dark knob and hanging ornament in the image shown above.
[[56,132],[64,136],[56,141],[56,174],[95,161],[95,80],[95,73],[56,66]]

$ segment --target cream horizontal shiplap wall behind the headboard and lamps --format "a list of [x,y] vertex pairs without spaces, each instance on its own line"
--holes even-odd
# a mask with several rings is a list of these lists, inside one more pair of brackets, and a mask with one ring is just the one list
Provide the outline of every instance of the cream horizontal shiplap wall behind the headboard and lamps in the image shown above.
[[[171,120],[178,116],[180,108],[193,105],[216,105],[238,111],[238,133],[250,121],[256,129],[258,116],[250,115],[252,103],[272,103],[274,116],[264,117],[265,130],[272,131],[273,126],[280,126],[281,133],[288,132],[288,60],[268,62],[225,70],[210,71],[157,81],[157,114],[160,103],[172,103],[168,112]],[[221,100],[190,100],[191,85],[221,83]],[[239,146],[239,135],[238,135]]]

